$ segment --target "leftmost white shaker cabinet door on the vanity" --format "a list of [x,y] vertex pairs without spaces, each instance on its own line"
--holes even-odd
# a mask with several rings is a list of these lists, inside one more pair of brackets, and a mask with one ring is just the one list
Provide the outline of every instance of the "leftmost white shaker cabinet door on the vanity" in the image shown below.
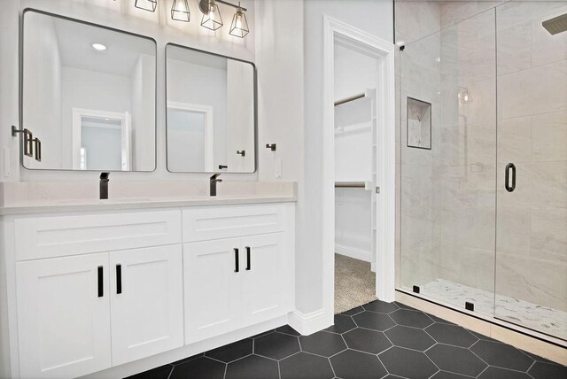
[[111,367],[108,254],[29,260],[16,270],[20,376]]

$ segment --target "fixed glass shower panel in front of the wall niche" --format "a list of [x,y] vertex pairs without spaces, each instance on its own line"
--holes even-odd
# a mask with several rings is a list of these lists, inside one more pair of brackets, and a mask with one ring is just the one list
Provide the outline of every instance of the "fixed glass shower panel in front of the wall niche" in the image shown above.
[[400,52],[400,285],[491,317],[494,25],[490,9]]

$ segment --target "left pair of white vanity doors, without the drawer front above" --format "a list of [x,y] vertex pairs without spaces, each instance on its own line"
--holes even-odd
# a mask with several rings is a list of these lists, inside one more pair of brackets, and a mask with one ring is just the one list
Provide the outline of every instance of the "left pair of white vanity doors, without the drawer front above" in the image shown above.
[[179,244],[16,266],[22,377],[74,377],[183,345]]

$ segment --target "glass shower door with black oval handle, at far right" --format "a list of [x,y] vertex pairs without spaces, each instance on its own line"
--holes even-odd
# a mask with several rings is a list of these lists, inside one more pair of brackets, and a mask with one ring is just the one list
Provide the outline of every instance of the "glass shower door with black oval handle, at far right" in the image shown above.
[[567,32],[563,2],[496,8],[494,315],[567,339]]

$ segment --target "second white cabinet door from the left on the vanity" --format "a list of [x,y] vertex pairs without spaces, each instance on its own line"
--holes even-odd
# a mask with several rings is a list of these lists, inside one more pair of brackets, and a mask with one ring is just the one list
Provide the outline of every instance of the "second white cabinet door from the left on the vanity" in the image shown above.
[[110,253],[113,366],[183,346],[182,268],[179,244]]

